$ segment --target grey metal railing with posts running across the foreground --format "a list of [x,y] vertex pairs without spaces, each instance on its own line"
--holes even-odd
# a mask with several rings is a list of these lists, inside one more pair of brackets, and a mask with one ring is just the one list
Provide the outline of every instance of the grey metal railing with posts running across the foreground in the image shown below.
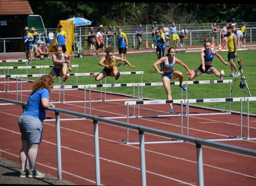
[[[5,101],[13,104],[22,105],[23,109],[25,109],[27,103],[14,101],[10,99],[0,98],[0,101]],[[59,114],[68,114],[76,117],[86,118],[93,120],[94,125],[94,153],[95,153],[95,177],[96,177],[96,185],[100,185],[100,158],[99,158],[99,131],[98,131],[98,122],[105,122],[109,124],[113,124],[116,126],[127,127],[134,130],[138,130],[139,133],[139,147],[140,147],[140,166],[141,166],[141,185],[146,185],[146,162],[145,162],[145,143],[144,143],[144,133],[148,132],[150,134],[159,135],[167,138],[175,138],[178,140],[183,140],[186,142],[191,142],[196,144],[197,149],[197,170],[198,170],[198,185],[204,185],[204,175],[203,175],[203,151],[202,145],[215,147],[218,149],[224,149],[231,152],[237,152],[246,155],[256,156],[256,150],[222,144],[213,141],[203,140],[201,138],[194,138],[184,135],[179,135],[174,132],[168,132],[164,130],[159,130],[151,127],[145,127],[141,125],[136,125],[132,123],[126,123],[121,121],[116,121],[112,119],[106,119],[94,115],[88,115],[63,109],[57,108],[47,108],[46,110],[55,112],[55,122],[56,122],[56,143],[57,143],[57,172],[58,172],[58,180],[62,179],[62,168],[61,168],[61,141],[60,141],[60,116]]]

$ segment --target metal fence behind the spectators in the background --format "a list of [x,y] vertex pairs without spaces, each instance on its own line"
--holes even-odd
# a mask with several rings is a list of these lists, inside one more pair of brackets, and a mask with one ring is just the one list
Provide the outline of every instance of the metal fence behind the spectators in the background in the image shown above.
[[[217,25],[220,25],[220,30],[223,28],[225,23],[217,23]],[[171,24],[168,24],[170,26]],[[187,46],[196,46],[196,45],[202,45],[204,36],[208,36],[211,39],[211,25],[212,23],[201,23],[201,24],[176,24],[177,31],[181,31],[184,26],[186,26],[188,30],[188,40],[186,42]],[[246,22],[246,29],[247,29],[247,36],[246,36],[246,43],[255,43],[256,42],[256,22]],[[90,26],[90,25],[89,25]],[[146,41],[148,43],[153,43],[152,39],[152,33],[151,33],[151,26],[152,25],[142,25],[143,34],[142,34],[142,48],[144,48]],[[164,26],[164,25],[158,25],[158,26]],[[240,23],[238,23],[238,26],[240,27]],[[117,28],[118,26],[112,26],[116,33],[118,33]],[[121,26],[122,31],[127,35],[129,40],[129,47],[135,48],[135,46],[138,43],[135,29],[137,28],[137,25],[129,25],[129,26]],[[103,26],[104,31],[108,29],[108,26]],[[94,31],[97,33],[98,28],[95,26]],[[56,32],[56,28],[46,28],[46,33],[49,32]],[[87,29],[85,26],[77,27],[75,29],[75,35],[74,35],[74,44],[77,47],[73,48],[74,50],[81,50],[81,49],[87,49]],[[42,33],[43,34],[43,33]],[[220,33],[218,34],[217,42],[221,42],[221,38],[219,37]],[[106,37],[106,36],[105,36]],[[42,35],[42,40],[45,42],[48,40],[48,36]],[[22,37],[18,38],[0,38],[0,52],[6,53],[6,43],[11,43],[13,40],[19,39],[23,40]],[[112,47],[117,48],[117,38],[115,36],[111,36],[112,40]],[[105,38],[105,43],[106,38]]]

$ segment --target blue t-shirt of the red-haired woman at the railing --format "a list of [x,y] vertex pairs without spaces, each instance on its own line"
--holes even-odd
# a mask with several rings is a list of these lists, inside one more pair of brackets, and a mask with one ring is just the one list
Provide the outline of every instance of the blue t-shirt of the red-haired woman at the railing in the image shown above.
[[29,95],[27,107],[23,114],[45,120],[46,111],[42,107],[41,98],[49,98],[48,89],[38,89],[36,92],[32,92]]

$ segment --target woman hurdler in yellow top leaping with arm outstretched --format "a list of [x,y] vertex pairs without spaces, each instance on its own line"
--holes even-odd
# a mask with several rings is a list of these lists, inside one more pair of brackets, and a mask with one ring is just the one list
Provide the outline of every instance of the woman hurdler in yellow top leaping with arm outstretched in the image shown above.
[[111,77],[115,76],[115,79],[117,80],[120,76],[120,72],[118,72],[118,69],[116,67],[116,62],[118,61],[124,62],[125,64],[129,65],[131,68],[135,68],[135,66],[134,65],[132,66],[131,63],[126,59],[122,59],[120,57],[114,56],[113,48],[108,47],[105,49],[105,52],[106,52],[106,56],[102,57],[98,63],[100,66],[103,66],[104,69],[98,74],[93,73],[91,75],[92,77],[95,77],[95,81],[100,81],[106,76],[111,76]]

